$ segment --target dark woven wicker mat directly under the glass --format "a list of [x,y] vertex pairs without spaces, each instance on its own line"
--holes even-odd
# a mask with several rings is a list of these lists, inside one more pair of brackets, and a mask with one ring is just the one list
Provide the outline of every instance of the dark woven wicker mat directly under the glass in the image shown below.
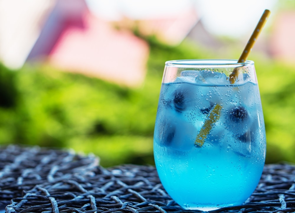
[[[54,152],[56,157],[66,155],[66,152]],[[90,158],[81,158],[81,161],[84,159],[94,162]],[[47,162],[49,167],[50,162]],[[35,165],[39,164],[35,162]],[[59,166],[62,164],[60,162]],[[6,206],[6,212],[201,212],[179,207],[166,194],[154,166],[122,165],[108,169],[87,166],[84,173],[81,168],[76,173],[71,172],[76,170],[71,167],[65,170],[68,173],[56,178],[52,178],[48,172],[51,170],[47,169],[44,173],[47,177],[40,175],[44,181],[35,181],[35,185],[21,182],[22,196],[13,198]],[[3,168],[1,171],[5,170]],[[18,188],[13,187],[17,184],[14,181],[10,181],[5,189],[1,185],[0,194],[7,190],[14,193],[13,196],[19,195],[15,193]],[[266,165],[260,183],[244,205],[210,211],[215,212],[295,212],[295,166]]]

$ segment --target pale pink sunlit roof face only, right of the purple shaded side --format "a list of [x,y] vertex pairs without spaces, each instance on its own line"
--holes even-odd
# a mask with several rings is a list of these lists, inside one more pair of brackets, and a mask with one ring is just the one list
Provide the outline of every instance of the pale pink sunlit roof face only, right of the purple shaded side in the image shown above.
[[83,28],[63,31],[49,61],[63,70],[137,86],[144,81],[148,54],[148,44],[142,39],[86,14]]

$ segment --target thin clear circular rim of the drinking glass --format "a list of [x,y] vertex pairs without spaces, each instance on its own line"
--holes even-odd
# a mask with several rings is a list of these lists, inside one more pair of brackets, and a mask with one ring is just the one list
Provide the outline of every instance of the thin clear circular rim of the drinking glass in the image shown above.
[[254,61],[246,60],[245,62],[237,63],[236,59],[183,59],[166,61],[165,65],[173,67],[242,67],[254,65]]

